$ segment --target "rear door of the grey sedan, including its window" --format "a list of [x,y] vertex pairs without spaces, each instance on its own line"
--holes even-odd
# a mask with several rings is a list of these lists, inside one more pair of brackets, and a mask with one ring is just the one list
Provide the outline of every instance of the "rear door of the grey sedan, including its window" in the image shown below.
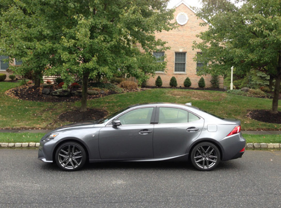
[[196,139],[204,120],[186,109],[157,107],[154,126],[154,157],[185,155],[189,144]]

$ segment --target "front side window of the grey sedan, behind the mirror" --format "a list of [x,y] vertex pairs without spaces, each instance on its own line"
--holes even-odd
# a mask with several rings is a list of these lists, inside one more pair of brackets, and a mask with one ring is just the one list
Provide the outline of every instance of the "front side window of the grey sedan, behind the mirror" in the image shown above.
[[153,107],[140,108],[131,110],[120,116],[118,119],[121,121],[122,125],[150,124],[152,112]]

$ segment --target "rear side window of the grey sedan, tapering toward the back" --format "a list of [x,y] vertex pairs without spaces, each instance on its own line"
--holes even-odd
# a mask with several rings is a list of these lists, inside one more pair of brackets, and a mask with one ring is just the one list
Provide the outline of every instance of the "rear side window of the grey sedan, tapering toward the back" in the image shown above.
[[160,107],[158,123],[187,123],[197,121],[199,118],[180,108]]

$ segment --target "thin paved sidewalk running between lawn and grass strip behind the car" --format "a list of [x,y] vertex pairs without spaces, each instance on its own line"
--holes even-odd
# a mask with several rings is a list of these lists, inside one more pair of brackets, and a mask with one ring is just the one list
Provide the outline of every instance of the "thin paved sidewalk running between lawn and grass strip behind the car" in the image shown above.
[[[51,129],[0,129],[0,132],[4,133],[48,133]],[[281,134],[281,131],[241,131],[242,134],[253,134],[253,135],[274,135]]]

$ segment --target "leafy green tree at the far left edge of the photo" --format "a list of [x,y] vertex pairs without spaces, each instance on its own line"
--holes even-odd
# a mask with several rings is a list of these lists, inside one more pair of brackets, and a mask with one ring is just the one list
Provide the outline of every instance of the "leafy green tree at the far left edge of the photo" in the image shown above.
[[[9,2],[9,3],[8,3]],[[2,1],[0,11],[1,54],[23,61],[21,66],[9,67],[16,74],[31,72],[34,85],[40,86],[43,70],[52,63],[51,35],[47,22],[38,15],[36,1]]]

